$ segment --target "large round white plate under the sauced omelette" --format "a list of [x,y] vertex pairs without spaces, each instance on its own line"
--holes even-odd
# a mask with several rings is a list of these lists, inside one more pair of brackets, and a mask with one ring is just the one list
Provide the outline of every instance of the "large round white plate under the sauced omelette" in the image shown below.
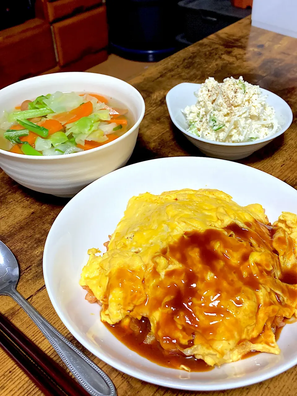
[[158,366],[120,343],[101,323],[100,307],[89,304],[78,284],[87,250],[112,234],[129,198],[149,191],[217,188],[240,205],[260,203],[270,221],[282,211],[297,212],[297,191],[249,166],[197,157],[171,157],[118,169],[84,188],[65,206],[44,248],[44,280],[49,298],[69,331],[93,354],[133,377],[187,390],[221,390],[263,381],[297,364],[297,323],[284,327],[280,355],[261,353],[212,371],[188,373]]

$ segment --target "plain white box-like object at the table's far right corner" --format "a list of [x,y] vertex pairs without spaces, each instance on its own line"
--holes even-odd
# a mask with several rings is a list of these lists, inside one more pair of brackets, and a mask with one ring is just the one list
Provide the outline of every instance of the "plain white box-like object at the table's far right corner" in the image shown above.
[[251,24],[297,38],[296,0],[253,0]]

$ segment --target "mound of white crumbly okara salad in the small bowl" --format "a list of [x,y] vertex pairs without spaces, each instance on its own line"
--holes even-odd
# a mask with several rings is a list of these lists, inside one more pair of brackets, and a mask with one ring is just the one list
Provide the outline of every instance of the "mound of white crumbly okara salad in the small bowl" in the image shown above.
[[239,143],[264,139],[280,130],[272,106],[257,85],[225,78],[223,83],[209,77],[194,93],[196,105],[183,113],[188,132],[208,140]]

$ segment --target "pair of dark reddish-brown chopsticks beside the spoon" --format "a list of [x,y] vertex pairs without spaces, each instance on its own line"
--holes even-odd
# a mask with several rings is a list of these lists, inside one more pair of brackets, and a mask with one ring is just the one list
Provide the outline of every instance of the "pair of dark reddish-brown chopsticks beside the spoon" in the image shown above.
[[59,364],[1,313],[0,346],[46,396],[89,396]]

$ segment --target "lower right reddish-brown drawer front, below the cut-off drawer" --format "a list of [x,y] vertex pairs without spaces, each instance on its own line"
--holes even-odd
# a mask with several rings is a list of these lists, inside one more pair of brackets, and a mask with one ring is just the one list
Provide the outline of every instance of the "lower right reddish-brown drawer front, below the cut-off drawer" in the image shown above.
[[52,25],[59,65],[99,51],[108,44],[106,7],[86,11]]

